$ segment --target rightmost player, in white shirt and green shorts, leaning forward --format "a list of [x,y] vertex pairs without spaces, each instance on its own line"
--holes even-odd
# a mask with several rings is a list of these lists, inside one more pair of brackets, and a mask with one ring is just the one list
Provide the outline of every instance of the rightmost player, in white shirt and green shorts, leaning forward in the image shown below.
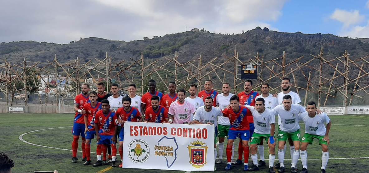
[[[303,165],[301,173],[307,173],[307,153],[306,148],[309,144],[313,144],[313,139],[319,140],[319,145],[322,146],[322,166],[321,173],[325,173],[325,167],[328,163],[329,153],[328,144],[329,137],[328,133],[331,129],[331,120],[325,113],[318,114],[315,102],[308,102],[306,106],[307,112],[300,114],[299,119],[304,121],[305,134],[301,140],[300,146],[300,158]],[[324,126],[327,124],[327,128]]]

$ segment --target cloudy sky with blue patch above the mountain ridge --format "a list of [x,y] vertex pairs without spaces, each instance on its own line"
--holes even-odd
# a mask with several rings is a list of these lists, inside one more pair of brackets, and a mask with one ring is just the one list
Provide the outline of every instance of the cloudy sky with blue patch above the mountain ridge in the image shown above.
[[369,0],[3,0],[0,42],[141,40],[204,28],[369,38]]

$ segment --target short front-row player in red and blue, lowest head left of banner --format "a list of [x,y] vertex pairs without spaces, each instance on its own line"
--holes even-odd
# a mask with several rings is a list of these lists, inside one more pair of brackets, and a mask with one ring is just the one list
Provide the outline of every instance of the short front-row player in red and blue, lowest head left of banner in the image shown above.
[[[117,146],[115,143],[117,142],[117,129],[118,129],[118,119],[114,112],[110,111],[110,105],[108,100],[101,101],[102,110],[99,110],[96,113],[95,117],[95,132],[96,132],[96,155],[97,162],[92,166],[101,166],[107,165],[106,162],[106,144],[111,145],[111,154],[113,155],[113,162],[111,166],[115,167],[115,160],[117,159]],[[100,128],[99,128],[100,127]],[[101,162],[101,149],[103,151],[103,161]]]

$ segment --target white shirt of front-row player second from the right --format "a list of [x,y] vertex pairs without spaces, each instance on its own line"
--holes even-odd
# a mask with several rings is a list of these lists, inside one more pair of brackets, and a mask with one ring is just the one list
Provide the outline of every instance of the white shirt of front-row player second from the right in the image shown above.
[[287,133],[292,133],[300,129],[299,113],[306,112],[305,108],[299,104],[291,104],[290,110],[284,110],[283,105],[276,106],[273,110],[274,114],[278,114],[282,123],[279,125],[279,130]]

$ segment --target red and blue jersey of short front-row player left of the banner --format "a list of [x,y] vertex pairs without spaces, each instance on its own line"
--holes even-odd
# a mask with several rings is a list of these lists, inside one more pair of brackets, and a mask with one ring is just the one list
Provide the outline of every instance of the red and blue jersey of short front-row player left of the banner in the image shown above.
[[118,119],[115,113],[110,110],[107,115],[103,113],[103,110],[99,110],[96,113],[94,123],[100,127],[99,135],[114,135],[115,126],[118,126]]

